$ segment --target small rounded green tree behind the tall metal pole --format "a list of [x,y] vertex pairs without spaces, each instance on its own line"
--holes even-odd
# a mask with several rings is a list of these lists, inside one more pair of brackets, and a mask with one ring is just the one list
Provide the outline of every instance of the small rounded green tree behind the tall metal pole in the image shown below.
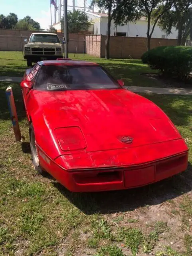
[[[64,17],[61,18],[62,30],[63,30],[63,21],[64,21]],[[80,10],[74,10],[73,12],[68,12],[67,21],[68,21],[69,33],[79,33],[81,31],[87,31],[92,24],[92,22],[89,21],[87,14]]]

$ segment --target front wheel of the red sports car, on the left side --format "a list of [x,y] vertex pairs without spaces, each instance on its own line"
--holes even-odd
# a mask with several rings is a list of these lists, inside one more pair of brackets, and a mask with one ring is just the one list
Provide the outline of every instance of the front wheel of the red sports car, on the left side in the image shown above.
[[30,135],[30,148],[31,148],[31,154],[32,154],[32,163],[35,166],[35,170],[39,174],[43,174],[44,171],[42,170],[42,168],[40,166],[38,151],[37,151],[37,147],[36,147],[36,138],[35,138],[34,128],[33,128],[32,124],[30,124],[30,127],[29,127],[29,135]]

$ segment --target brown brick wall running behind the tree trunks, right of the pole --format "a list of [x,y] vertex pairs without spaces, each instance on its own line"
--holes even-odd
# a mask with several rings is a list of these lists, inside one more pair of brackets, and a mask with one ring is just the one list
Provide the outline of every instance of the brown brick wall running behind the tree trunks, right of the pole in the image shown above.
[[[105,57],[105,40],[107,36],[98,36],[99,43],[97,42],[97,54],[95,54],[94,43],[95,36],[86,36],[87,53],[97,57]],[[98,40],[98,39],[97,39]],[[158,46],[176,46],[176,39],[164,38],[151,38],[151,49]],[[92,50],[93,45],[93,50]],[[100,51],[99,48],[100,47]],[[147,50],[147,38],[126,37],[126,36],[111,36],[110,38],[110,58],[133,58],[140,59],[142,54]],[[100,55],[99,55],[100,52]]]

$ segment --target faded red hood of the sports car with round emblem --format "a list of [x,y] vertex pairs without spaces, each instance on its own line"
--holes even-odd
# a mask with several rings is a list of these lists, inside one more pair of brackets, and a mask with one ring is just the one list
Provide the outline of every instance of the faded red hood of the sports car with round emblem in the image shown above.
[[[36,91],[36,98],[49,128],[78,126],[81,129],[86,152],[181,138],[158,106],[125,89]],[[129,143],[123,142],[124,137],[131,138]]]

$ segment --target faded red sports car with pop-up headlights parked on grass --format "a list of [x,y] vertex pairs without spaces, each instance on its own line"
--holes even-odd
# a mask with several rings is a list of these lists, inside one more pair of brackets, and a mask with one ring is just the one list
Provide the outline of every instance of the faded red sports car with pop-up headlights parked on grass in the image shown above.
[[166,114],[96,63],[38,62],[21,87],[33,164],[73,192],[144,186],[187,168]]

